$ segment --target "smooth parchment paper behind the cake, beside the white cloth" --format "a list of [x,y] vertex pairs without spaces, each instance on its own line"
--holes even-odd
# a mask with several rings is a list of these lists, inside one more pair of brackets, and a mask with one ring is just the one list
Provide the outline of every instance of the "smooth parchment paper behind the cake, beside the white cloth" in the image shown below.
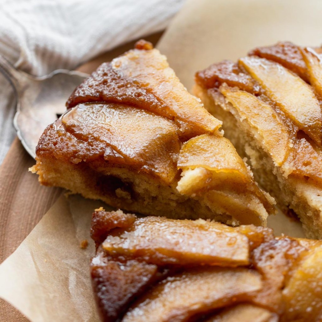
[[194,73],[251,49],[322,43],[320,0],[188,0],[158,43],[188,90]]

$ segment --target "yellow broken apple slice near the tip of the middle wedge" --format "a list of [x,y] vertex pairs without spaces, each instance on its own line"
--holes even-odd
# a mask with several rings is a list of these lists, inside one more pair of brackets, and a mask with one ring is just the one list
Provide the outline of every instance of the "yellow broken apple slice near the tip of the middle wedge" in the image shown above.
[[[177,186],[180,193],[204,193],[217,188],[223,190],[225,187],[227,191],[235,190],[239,193],[248,191],[259,198],[268,213],[275,212],[274,206],[267,201],[270,199],[269,195],[258,188],[235,147],[225,137],[207,134],[193,137],[181,148],[177,166],[183,169],[182,178]],[[202,186],[203,189],[197,190]],[[224,197],[224,194],[222,195]],[[252,197],[254,196],[250,198]],[[271,202],[274,203],[273,200]],[[237,211],[232,209],[230,213],[236,214]],[[249,221],[241,223],[254,223],[251,220],[250,216]]]

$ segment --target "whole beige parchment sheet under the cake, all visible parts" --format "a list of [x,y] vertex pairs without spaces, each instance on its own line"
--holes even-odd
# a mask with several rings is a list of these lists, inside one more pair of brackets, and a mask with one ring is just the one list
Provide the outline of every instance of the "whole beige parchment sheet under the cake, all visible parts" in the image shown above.
[[[191,89],[195,71],[237,59],[258,45],[279,40],[319,45],[321,12],[319,0],[188,0],[158,48]],[[91,213],[99,206],[104,204],[62,195],[0,265],[0,297],[32,322],[98,321],[90,284],[94,245],[89,232]],[[281,213],[271,216],[269,226],[276,235],[303,236],[300,225]],[[89,241],[87,249],[80,248],[84,239]]]

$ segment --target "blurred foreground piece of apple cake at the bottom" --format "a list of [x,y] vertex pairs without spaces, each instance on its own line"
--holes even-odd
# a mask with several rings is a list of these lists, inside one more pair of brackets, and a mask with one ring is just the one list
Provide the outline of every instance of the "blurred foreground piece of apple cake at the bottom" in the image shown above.
[[103,209],[91,236],[103,321],[320,321],[321,241]]

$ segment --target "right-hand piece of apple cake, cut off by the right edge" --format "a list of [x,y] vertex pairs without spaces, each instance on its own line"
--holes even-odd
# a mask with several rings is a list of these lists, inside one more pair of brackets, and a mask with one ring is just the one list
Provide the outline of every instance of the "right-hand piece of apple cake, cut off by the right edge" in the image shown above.
[[256,48],[196,73],[194,93],[308,237],[322,238],[322,52],[292,43]]

